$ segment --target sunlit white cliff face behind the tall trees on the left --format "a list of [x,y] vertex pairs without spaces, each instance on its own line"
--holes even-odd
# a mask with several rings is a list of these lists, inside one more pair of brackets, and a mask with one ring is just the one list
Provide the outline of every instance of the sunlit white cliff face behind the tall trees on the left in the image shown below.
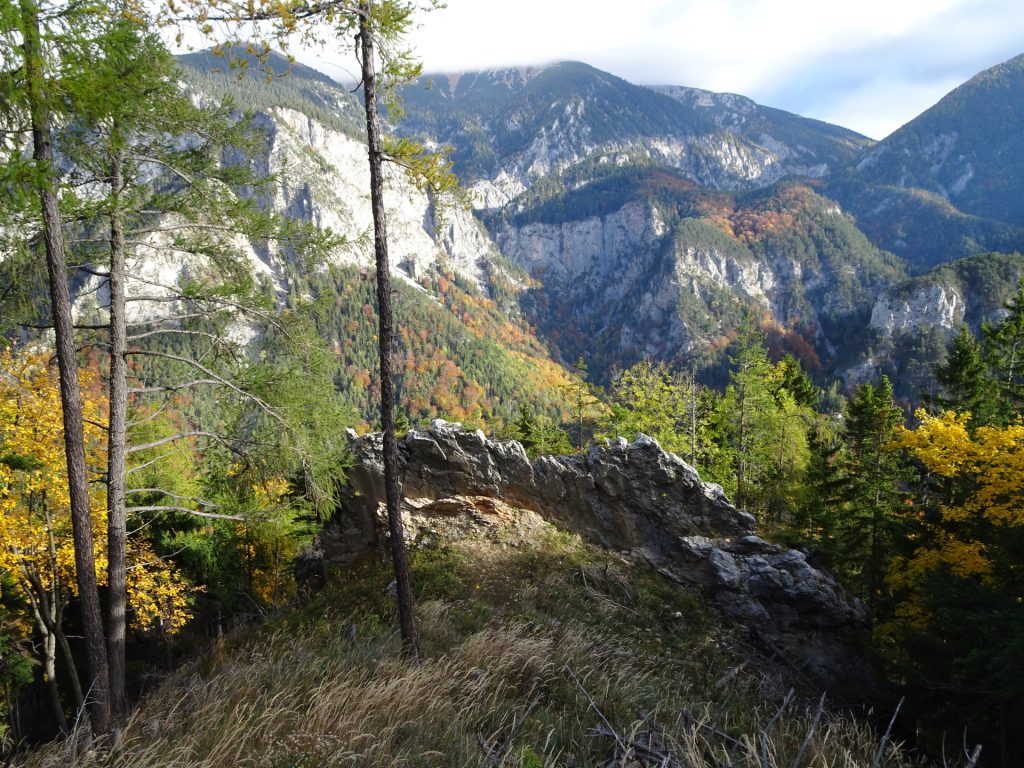
[[[373,218],[370,206],[370,172],[366,144],[293,109],[270,108],[253,118],[262,141],[245,158],[257,175],[273,183],[258,193],[260,205],[296,221],[330,228],[345,246],[332,254],[333,263],[372,270]],[[394,167],[386,168],[385,200],[388,207],[389,254],[392,273],[419,285],[420,275],[432,269],[451,269],[486,293],[487,275],[502,267],[486,230],[463,206],[445,205],[441,212],[428,196]],[[130,259],[129,297],[166,296],[191,271],[197,257],[169,247],[170,236],[146,236],[147,246]],[[167,241],[167,242],[162,242]],[[255,274],[268,278],[282,296],[289,291],[287,274],[294,255],[287,248],[263,242],[234,243]],[[508,275],[512,282],[516,278]],[[93,278],[84,283],[76,310],[83,315],[106,302],[105,283]],[[173,304],[133,302],[130,322],[152,321],[174,314]]]

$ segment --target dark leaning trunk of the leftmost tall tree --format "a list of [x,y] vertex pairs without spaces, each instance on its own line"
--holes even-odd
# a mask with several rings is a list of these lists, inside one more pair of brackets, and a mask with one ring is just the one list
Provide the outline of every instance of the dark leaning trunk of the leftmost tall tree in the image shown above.
[[65,453],[68,459],[72,532],[75,540],[75,569],[91,679],[89,714],[92,731],[99,735],[110,732],[110,702],[106,697],[109,675],[92,549],[92,520],[89,513],[89,486],[85,468],[85,442],[82,428],[82,393],[79,388],[78,361],[75,355],[62,221],[56,195],[51,184],[48,183],[53,167],[53,145],[49,110],[42,93],[44,75],[40,49],[39,14],[32,0],[20,0],[20,9],[22,32],[25,39],[25,74],[32,119],[33,152],[40,174],[39,201],[43,218],[43,242],[46,250],[46,268],[49,272],[50,303],[53,311],[56,357],[60,378]]

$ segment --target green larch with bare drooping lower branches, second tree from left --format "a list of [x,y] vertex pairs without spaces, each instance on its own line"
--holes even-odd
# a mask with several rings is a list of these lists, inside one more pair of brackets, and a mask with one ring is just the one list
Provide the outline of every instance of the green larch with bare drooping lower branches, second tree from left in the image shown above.
[[[94,281],[89,290],[101,295],[105,289],[108,299],[86,317],[85,341],[104,349],[109,361],[106,680],[117,723],[127,703],[126,610],[133,575],[127,564],[128,518],[164,512],[219,515],[207,500],[176,496],[166,486],[132,485],[128,474],[139,467],[130,467],[129,459],[196,440],[237,453],[253,444],[195,424],[154,440],[144,436],[146,422],[171,413],[176,397],[200,389],[230,391],[275,419],[276,434],[288,436],[264,439],[266,445],[288,441],[289,450],[303,453],[298,460],[306,470],[303,495],[330,496],[319,479],[323,461],[310,459],[308,444],[296,449],[293,425],[285,424],[280,409],[268,402],[265,387],[262,394],[256,392],[266,377],[251,375],[232,329],[256,323],[265,336],[289,323],[269,311],[266,297],[259,295],[237,242],[240,236],[248,242],[273,241],[302,258],[312,258],[310,250],[336,240],[330,233],[310,237],[308,227],[286,224],[240,197],[237,190],[253,188],[253,179],[246,168],[225,164],[223,154],[250,145],[245,119],[228,108],[209,105],[209,99],[194,103],[181,90],[173,58],[140,11],[119,6],[100,13],[103,7],[95,6],[88,34],[79,31],[76,45],[54,54],[66,117],[59,126],[61,172],[54,168],[48,184],[61,197],[61,234],[76,268]],[[16,170],[16,153],[11,155],[8,170]],[[32,225],[36,218],[26,214],[19,223]],[[164,284],[140,273],[147,259],[161,255],[186,261],[187,279]],[[134,322],[128,318],[128,302],[136,307]],[[83,314],[88,306],[80,310]],[[287,331],[283,336],[292,338]],[[246,377],[252,386],[241,383]],[[160,402],[146,416],[145,404],[154,398]],[[251,436],[252,424],[250,417],[242,431]],[[159,461],[146,458],[146,463]]]

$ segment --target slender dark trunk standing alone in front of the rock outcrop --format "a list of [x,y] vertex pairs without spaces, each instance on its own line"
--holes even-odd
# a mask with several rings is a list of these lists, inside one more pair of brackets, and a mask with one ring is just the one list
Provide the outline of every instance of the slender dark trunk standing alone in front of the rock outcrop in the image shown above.
[[394,382],[391,372],[391,275],[388,269],[387,217],[384,210],[383,155],[381,128],[377,111],[377,77],[374,67],[373,0],[359,2],[359,45],[362,67],[362,94],[367,112],[367,144],[370,158],[370,200],[374,214],[374,255],[377,261],[378,344],[381,374],[381,428],[384,431],[384,485],[387,496],[387,521],[390,531],[391,559],[398,596],[398,622],[406,652],[420,658],[416,632],[416,606],[409,574],[406,534],[401,524],[401,487],[398,478],[398,440],[394,432]]

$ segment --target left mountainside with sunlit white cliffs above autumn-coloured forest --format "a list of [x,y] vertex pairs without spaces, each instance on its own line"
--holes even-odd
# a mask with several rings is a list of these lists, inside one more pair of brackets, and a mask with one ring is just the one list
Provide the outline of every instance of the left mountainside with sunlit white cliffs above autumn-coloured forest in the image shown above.
[[[242,60],[251,72],[259,66]],[[259,74],[240,80],[225,59],[206,53],[180,61],[187,87],[199,95],[227,95],[255,112],[259,141],[231,160],[272,177],[260,203],[346,239],[346,247],[311,271],[287,249],[265,243],[253,244],[252,266],[273,283],[282,305],[294,296],[319,300],[318,331],[334,348],[338,396],[372,424],[377,321],[359,103],[327,76],[273,54],[269,81]],[[438,215],[434,201],[399,169],[388,170],[385,194],[397,278],[397,388],[410,419],[441,416],[497,427],[522,406],[553,417],[567,413],[568,375],[519,312],[525,275],[502,258],[468,211],[454,206]]]

